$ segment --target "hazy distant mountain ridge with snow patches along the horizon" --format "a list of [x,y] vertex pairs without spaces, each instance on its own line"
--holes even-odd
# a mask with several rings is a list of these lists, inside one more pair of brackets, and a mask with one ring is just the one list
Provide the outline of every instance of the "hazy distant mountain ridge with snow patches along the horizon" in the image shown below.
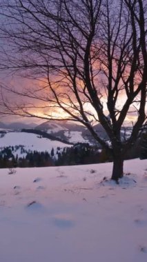
[[[66,143],[90,143],[92,145],[99,145],[84,125],[79,125],[74,121],[45,121],[37,126],[35,126],[34,123],[10,123],[8,125],[0,122],[0,132],[10,132],[12,130],[21,131],[21,129],[33,130],[32,128],[46,132],[54,136],[55,139],[60,139]],[[95,125],[94,129],[101,139],[108,139],[108,135],[101,124]],[[122,128],[122,138],[127,139],[130,137],[131,130],[132,128],[129,127]]]

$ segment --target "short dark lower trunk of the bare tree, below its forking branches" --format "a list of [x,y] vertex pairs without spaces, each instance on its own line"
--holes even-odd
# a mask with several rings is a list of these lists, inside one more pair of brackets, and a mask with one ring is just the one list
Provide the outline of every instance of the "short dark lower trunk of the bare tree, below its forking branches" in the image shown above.
[[121,177],[123,177],[123,166],[124,159],[119,154],[114,157],[113,160],[113,168],[112,168],[112,180],[118,181]]

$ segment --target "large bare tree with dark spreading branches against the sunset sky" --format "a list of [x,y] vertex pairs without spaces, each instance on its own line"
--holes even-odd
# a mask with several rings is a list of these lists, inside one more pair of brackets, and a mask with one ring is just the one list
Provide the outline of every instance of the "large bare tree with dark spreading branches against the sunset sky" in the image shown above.
[[[63,110],[113,157],[112,179],[123,177],[127,150],[146,121],[147,3],[145,0],[1,1],[1,69],[38,79],[38,88],[11,90],[40,101],[44,119]],[[6,90],[8,88],[4,86]],[[37,105],[11,105],[6,113],[36,116]],[[121,132],[135,114],[130,137]],[[102,139],[94,123],[109,137]]]

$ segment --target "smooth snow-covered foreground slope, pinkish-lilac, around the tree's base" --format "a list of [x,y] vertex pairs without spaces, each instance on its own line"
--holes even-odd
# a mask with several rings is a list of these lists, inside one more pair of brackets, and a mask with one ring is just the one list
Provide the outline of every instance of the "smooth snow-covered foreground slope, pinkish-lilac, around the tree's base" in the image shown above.
[[147,160],[0,170],[1,262],[147,261]]

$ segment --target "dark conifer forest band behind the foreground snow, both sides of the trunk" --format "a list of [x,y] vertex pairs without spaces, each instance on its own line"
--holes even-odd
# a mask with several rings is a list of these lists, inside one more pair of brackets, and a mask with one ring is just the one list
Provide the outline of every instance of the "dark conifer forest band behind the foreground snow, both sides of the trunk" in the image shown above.
[[[144,134],[126,154],[126,159],[137,157],[147,159],[147,134]],[[106,150],[99,150],[97,146],[89,145],[88,143],[77,143],[72,145],[71,148],[52,148],[50,153],[47,151],[28,152],[23,145],[1,148],[0,151],[0,168],[85,165],[108,161],[112,161],[112,156]]]

